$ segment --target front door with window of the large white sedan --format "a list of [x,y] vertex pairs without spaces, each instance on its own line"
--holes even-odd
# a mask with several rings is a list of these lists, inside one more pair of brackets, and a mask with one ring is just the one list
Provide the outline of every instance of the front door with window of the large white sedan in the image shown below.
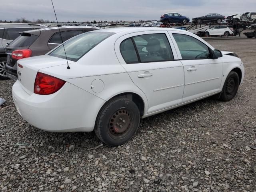
[[221,58],[212,59],[210,48],[187,34],[172,34],[184,65],[184,94],[182,103],[220,92]]

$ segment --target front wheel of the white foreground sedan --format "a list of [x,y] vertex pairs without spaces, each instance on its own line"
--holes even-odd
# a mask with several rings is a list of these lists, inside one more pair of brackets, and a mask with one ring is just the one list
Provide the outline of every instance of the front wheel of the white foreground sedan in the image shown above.
[[230,101],[234,96],[236,96],[236,93],[239,88],[239,76],[236,72],[231,71],[223,85],[222,92],[220,95],[221,101]]

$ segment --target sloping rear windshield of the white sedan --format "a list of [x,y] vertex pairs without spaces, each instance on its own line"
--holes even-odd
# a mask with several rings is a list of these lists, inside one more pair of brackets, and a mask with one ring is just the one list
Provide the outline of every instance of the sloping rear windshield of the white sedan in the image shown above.
[[[87,32],[68,40],[64,43],[68,60],[77,61],[92,48],[106,38],[112,36],[112,32]],[[63,45],[50,52],[50,56],[66,59]]]

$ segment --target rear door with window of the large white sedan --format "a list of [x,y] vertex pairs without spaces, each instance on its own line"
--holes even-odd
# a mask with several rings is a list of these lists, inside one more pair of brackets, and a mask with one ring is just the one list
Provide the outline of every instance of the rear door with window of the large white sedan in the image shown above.
[[[170,42],[169,42],[170,40]],[[181,104],[183,65],[166,31],[137,32],[115,43],[118,60],[148,99],[148,114]]]

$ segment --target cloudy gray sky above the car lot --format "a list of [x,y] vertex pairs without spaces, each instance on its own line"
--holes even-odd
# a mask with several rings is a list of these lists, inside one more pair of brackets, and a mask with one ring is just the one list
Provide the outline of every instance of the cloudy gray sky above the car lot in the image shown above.
[[[159,20],[165,12],[178,12],[190,20],[207,13],[256,11],[255,0],[53,0],[59,22]],[[2,0],[0,20],[55,20],[50,0]]]

